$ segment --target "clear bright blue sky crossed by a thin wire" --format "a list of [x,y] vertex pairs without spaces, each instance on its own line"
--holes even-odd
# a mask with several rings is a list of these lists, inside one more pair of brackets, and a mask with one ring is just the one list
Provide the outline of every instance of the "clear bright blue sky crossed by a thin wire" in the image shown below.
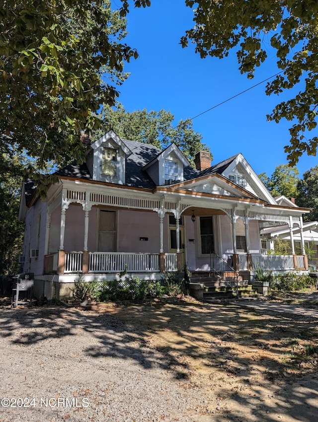
[[[180,38],[193,26],[193,13],[184,0],[152,0],[151,7],[131,9],[127,18],[129,34],[124,42],[136,48],[140,57],[126,64],[125,71],[131,75],[119,88],[119,101],[126,111],[169,110],[177,124],[278,71],[272,56],[248,80],[238,70],[235,51],[220,60],[200,59],[194,46],[182,49]],[[289,122],[269,123],[266,114],[291,92],[268,97],[265,86],[193,120],[194,130],[211,148],[214,163],[241,152],[256,174],[266,172],[268,176],[277,165],[287,163],[284,145],[289,143]],[[297,165],[300,176],[317,164],[317,157],[304,154]]]

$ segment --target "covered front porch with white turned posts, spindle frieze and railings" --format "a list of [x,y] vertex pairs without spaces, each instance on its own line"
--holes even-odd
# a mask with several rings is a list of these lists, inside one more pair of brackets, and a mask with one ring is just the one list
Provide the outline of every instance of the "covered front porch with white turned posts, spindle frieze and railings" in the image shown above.
[[[88,189],[89,188],[89,189]],[[106,188],[105,188],[106,190]],[[158,188],[159,190],[159,188]],[[168,188],[158,192],[63,182],[47,206],[44,274],[307,270],[305,255],[265,255],[260,224],[299,224],[297,210]],[[80,247],[80,245],[82,245]]]

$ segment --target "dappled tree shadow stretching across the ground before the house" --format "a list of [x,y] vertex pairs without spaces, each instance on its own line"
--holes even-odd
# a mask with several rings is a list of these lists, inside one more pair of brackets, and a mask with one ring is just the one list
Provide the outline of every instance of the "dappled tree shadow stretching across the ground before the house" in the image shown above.
[[132,359],[172,372],[181,388],[202,388],[215,409],[211,422],[317,421],[317,358],[305,354],[318,345],[317,321],[310,318],[182,300],[104,313],[0,310],[0,336],[12,345],[77,342],[81,330],[91,339],[83,344],[87,356]]

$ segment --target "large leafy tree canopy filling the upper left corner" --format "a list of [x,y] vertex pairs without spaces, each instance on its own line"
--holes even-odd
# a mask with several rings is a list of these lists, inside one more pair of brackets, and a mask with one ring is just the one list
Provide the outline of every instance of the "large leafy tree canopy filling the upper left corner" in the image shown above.
[[0,2],[0,159],[16,144],[34,158],[26,174],[38,182],[37,169],[50,160],[82,161],[79,132],[98,127],[95,112],[114,104],[123,63],[138,56],[122,42],[129,3],[150,4]]

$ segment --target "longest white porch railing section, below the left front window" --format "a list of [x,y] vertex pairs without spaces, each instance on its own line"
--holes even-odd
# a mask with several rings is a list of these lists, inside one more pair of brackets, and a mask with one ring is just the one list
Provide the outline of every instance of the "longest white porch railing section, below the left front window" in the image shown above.
[[159,254],[90,252],[89,273],[159,272]]

